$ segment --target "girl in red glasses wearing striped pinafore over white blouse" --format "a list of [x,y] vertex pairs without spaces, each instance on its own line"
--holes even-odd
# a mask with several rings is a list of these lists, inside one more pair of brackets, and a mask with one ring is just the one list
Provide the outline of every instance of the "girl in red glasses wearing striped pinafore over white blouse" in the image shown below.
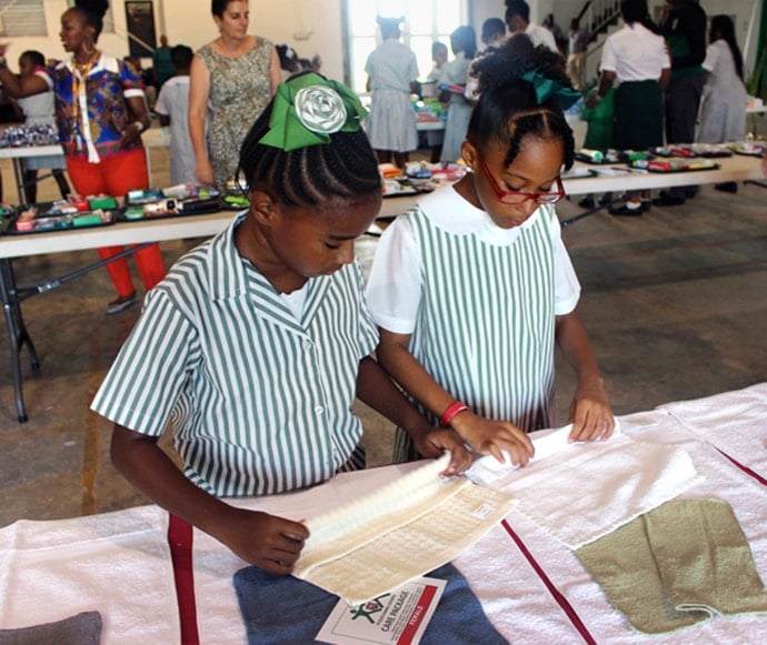
[[[570,441],[615,420],[584,324],[554,204],[574,161],[559,57],[526,36],[475,61],[481,97],[462,158],[472,172],[422,198],[381,236],[367,295],[377,356],[434,423],[480,454],[532,456],[554,423],[554,346],[577,377]],[[417,457],[398,432],[395,458]]]

